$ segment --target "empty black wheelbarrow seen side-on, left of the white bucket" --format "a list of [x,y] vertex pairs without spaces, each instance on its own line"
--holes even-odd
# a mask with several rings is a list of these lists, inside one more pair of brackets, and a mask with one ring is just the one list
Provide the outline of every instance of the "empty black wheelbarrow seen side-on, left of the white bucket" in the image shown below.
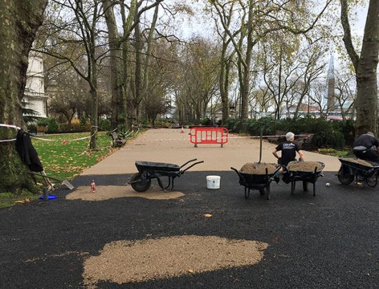
[[[137,192],[145,192],[150,185],[152,184],[152,179],[158,180],[158,185],[165,192],[171,192],[174,188],[174,179],[176,177],[180,177],[184,174],[186,170],[192,168],[198,163],[203,163],[204,161],[198,161],[196,163],[192,163],[191,166],[182,170],[182,168],[192,161],[196,161],[197,159],[191,159],[184,163],[183,166],[178,166],[174,163],[154,163],[152,161],[136,161],[136,168],[139,170],[136,174],[132,176],[129,183],[134,190]],[[161,177],[168,177],[168,185],[163,186],[161,181]],[[171,186],[171,188],[170,188]]]

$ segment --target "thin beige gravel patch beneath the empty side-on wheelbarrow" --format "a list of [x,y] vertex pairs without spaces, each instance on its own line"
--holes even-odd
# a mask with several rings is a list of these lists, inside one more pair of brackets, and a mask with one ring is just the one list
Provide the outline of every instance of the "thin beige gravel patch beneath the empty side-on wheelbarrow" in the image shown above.
[[161,189],[136,192],[131,186],[97,186],[96,192],[90,192],[90,186],[79,186],[74,192],[65,198],[70,200],[81,199],[83,201],[105,201],[107,199],[140,197],[144,199],[177,199],[183,197],[183,192],[164,192]]

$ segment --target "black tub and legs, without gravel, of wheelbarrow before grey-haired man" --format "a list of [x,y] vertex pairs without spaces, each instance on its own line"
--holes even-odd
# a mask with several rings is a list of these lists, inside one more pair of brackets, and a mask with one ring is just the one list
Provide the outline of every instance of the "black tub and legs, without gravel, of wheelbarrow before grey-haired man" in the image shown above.
[[[299,163],[300,161],[291,161],[290,163]],[[320,164],[320,168],[315,166],[314,170],[301,171],[301,170],[290,170],[288,166],[283,166],[283,181],[285,183],[291,183],[291,194],[294,195],[296,188],[296,181],[303,181],[303,190],[308,191],[308,183],[313,183],[314,196],[316,196],[316,181],[318,177],[322,176],[322,170],[325,168],[325,164],[316,161]],[[289,163],[289,164],[290,164]]]

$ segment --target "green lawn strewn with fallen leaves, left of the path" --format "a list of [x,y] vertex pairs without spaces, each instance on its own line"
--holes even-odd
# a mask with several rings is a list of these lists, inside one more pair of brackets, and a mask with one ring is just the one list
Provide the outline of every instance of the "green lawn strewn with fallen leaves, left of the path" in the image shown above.
[[[86,168],[94,166],[94,164],[117,150],[117,148],[110,148],[112,137],[108,136],[105,132],[99,132],[97,134],[98,150],[90,152],[88,146],[90,139],[86,138],[89,135],[89,132],[83,132],[38,136],[41,139],[50,139],[51,141],[32,138],[33,146],[38,152],[46,174],[61,180],[73,179]],[[130,134],[127,140],[133,139],[136,135],[137,133]],[[52,181],[52,183],[60,185],[59,181]],[[3,192],[0,193],[0,208],[12,206],[17,201],[28,203],[28,201],[37,199],[38,197],[39,195],[32,195],[30,192],[24,191],[21,195]]]

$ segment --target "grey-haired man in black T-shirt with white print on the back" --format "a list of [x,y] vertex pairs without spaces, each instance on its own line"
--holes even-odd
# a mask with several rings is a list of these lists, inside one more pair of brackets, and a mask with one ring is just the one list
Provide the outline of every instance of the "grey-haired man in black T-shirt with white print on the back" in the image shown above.
[[[304,161],[303,152],[298,147],[297,143],[294,143],[295,134],[293,132],[287,132],[285,135],[287,141],[280,143],[272,151],[272,155],[278,159],[278,163],[282,166],[287,166],[290,161],[296,161],[296,152],[298,152],[300,161]],[[281,151],[281,156],[278,156],[278,152]]]

